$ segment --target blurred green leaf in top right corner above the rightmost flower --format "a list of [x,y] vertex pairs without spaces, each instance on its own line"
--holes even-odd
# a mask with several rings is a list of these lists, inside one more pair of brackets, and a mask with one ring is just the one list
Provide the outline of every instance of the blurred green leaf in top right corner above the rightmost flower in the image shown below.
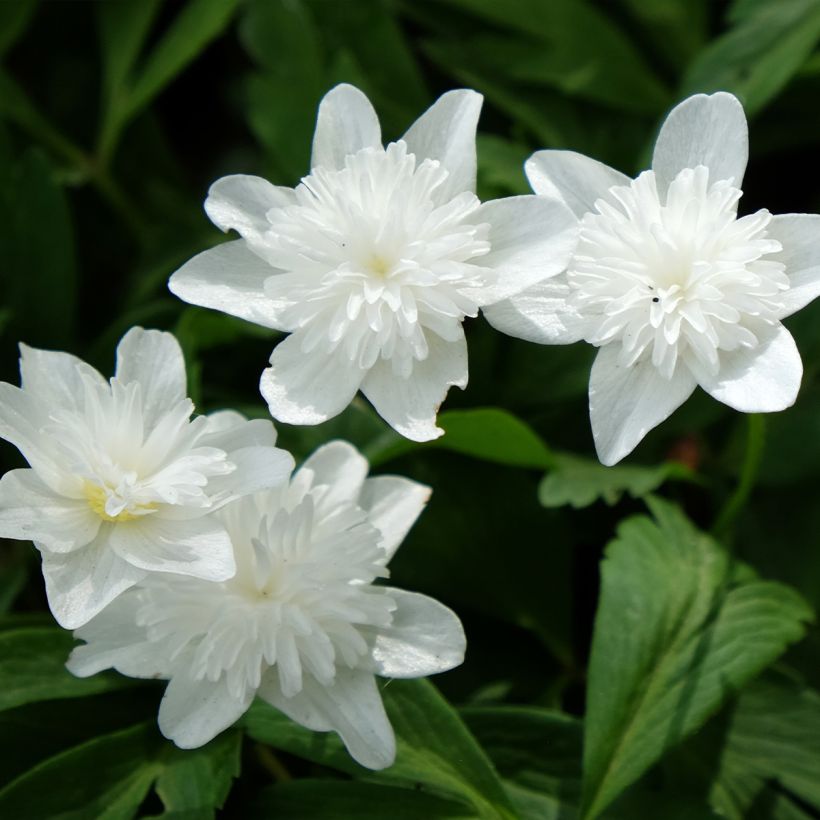
[[753,114],[797,73],[818,40],[818,0],[760,4],[700,53],[686,72],[681,96],[731,91]]

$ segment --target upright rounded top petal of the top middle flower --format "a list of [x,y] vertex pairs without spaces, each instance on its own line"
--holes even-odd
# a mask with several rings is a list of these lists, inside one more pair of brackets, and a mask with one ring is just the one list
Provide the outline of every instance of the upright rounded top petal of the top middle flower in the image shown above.
[[348,154],[381,144],[379,118],[365,94],[347,83],[325,94],[316,118],[311,168],[344,168]]

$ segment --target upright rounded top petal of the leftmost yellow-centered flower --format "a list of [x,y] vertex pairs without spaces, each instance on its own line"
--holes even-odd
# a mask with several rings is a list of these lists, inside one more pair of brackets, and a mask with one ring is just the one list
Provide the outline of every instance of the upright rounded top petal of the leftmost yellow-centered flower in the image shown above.
[[153,429],[160,416],[187,396],[179,342],[170,333],[132,327],[117,346],[117,379],[123,384],[139,383],[145,426]]

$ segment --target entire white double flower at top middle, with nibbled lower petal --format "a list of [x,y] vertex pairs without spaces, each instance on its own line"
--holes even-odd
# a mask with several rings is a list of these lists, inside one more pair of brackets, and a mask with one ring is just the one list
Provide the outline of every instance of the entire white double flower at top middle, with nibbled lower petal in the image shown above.
[[260,384],[274,418],[318,424],[361,389],[403,436],[438,437],[439,405],[467,384],[464,318],[566,267],[577,220],[563,203],[476,197],[481,101],[450,91],[384,148],[370,101],[339,85],[295,190],[253,176],[211,187],[208,216],[242,238],[169,287],[291,334]]

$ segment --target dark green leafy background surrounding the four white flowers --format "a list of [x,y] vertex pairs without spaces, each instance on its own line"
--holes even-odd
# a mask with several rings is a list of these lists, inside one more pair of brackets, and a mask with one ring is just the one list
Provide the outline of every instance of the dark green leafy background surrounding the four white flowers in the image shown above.
[[[6,0],[0,378],[17,383],[19,340],[110,373],[143,324],[179,337],[200,410],[266,416],[256,386],[277,335],[165,285],[222,239],[210,182],[307,172],[317,103],[341,81],[388,139],[442,91],[482,92],[484,198],[526,192],[522,163],[544,147],[635,173],[675,102],[729,90],[751,120],[743,207],[820,211],[818,42],[820,0]],[[385,686],[400,752],[378,775],[258,704],[241,731],[176,750],[154,727],[160,686],[62,669],[71,640],[33,551],[4,544],[0,814],[820,817],[820,305],[789,327],[801,395],[768,420],[752,496],[722,519],[732,552],[701,530],[732,497],[744,419],[699,395],[628,465],[601,467],[583,345],[468,322],[470,385],[428,445],[362,400],[280,427],[297,460],[344,437],[434,488],[393,579],[453,606],[469,654],[435,687]],[[650,492],[666,500],[647,515]]]

